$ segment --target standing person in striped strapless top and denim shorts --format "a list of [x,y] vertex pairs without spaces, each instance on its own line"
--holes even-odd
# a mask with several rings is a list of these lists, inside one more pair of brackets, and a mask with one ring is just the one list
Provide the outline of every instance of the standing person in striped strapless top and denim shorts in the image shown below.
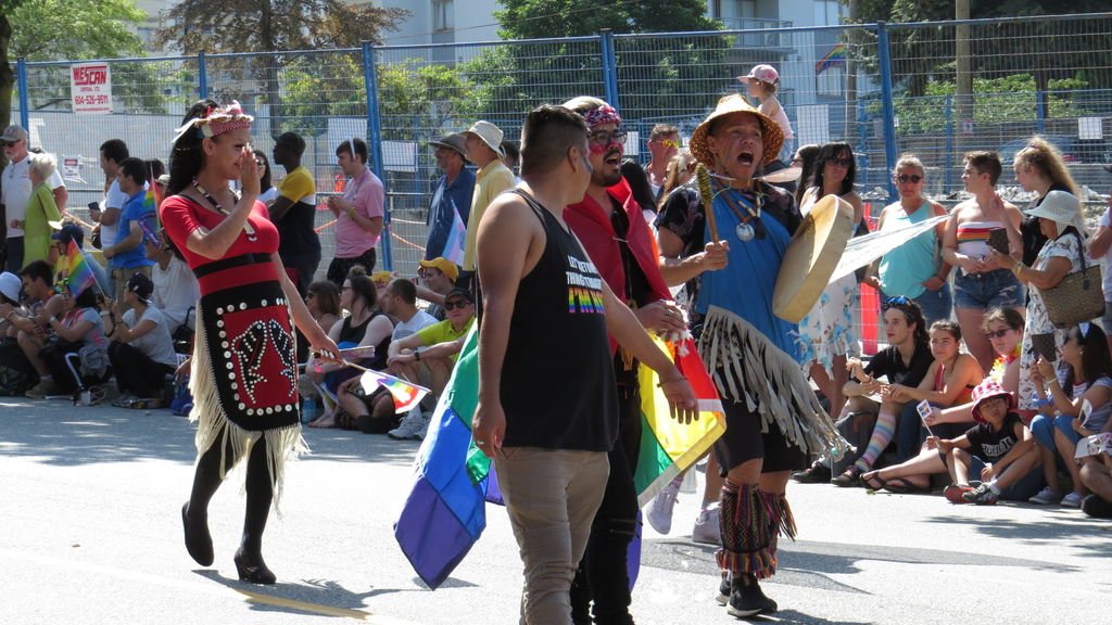
[[942,258],[959,268],[954,277],[957,323],[970,354],[985,371],[994,358],[992,345],[981,331],[985,312],[1002,306],[1022,312],[1026,300],[1019,278],[991,254],[996,249],[1016,260],[1023,254],[1023,215],[996,194],[1002,171],[996,152],[965,155],[962,182],[973,197],[954,207],[942,237]]

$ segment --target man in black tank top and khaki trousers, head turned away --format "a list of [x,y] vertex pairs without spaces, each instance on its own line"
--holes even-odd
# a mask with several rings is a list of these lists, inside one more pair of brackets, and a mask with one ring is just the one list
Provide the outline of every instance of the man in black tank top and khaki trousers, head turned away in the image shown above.
[[476,446],[494,459],[525,565],[523,623],[572,623],[569,589],[617,438],[608,334],[661,374],[678,418],[691,386],[607,288],[563,220],[590,181],[587,127],[563,107],[525,120],[523,182],[479,224]]

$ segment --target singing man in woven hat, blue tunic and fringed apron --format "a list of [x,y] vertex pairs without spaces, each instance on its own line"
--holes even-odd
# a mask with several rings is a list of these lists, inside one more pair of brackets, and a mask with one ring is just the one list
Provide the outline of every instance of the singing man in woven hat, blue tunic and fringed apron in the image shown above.
[[796,361],[796,326],[773,314],[776,277],[802,217],[790,194],[756,177],[783,141],[776,122],[739,95],[722,98],[689,142],[711,176],[699,192],[671,196],[657,218],[665,278],[697,278],[693,327],[726,409],[726,433],[715,444],[726,478],[717,598],[739,617],[776,612],[758,579],[776,572],[778,535],[795,535],[785,497],[792,470],[810,453],[840,447]]

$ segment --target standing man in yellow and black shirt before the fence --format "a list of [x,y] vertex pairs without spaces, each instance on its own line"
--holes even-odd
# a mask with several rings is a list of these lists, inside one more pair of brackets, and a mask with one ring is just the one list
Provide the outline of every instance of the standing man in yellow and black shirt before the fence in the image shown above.
[[296,132],[278,137],[272,156],[275,163],[286,168],[286,177],[278,183],[278,199],[270,205],[270,220],[278,227],[278,256],[301,297],[320,265],[320,238],[314,229],[317,183],[301,165],[304,153],[305,139]]

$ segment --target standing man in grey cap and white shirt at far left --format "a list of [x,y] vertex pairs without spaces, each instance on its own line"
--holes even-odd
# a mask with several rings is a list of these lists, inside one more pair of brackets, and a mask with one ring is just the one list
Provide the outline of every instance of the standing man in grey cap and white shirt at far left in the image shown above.
[[[18,224],[23,221],[27,202],[33,190],[27,142],[27,130],[20,126],[9,126],[3,135],[0,135],[3,156],[8,159],[8,167],[0,173],[0,228],[7,232],[6,267],[13,272],[23,268],[23,230]],[[66,183],[62,182],[57,169],[47,180],[47,185],[53,191],[58,211],[64,212],[68,195]],[[13,222],[17,225],[13,226]]]

